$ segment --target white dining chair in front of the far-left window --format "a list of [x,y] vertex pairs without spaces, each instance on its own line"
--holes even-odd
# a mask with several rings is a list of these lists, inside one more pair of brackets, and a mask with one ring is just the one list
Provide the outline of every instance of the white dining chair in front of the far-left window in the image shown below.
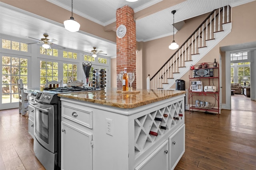
[[22,79],[17,80],[17,85],[19,92],[19,113],[23,116],[28,111],[28,94],[24,92]]

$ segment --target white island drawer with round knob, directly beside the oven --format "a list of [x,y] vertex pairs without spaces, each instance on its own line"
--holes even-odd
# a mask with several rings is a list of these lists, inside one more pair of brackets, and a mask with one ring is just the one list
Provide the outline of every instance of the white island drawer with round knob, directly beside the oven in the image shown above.
[[92,111],[79,105],[62,104],[62,117],[92,129]]

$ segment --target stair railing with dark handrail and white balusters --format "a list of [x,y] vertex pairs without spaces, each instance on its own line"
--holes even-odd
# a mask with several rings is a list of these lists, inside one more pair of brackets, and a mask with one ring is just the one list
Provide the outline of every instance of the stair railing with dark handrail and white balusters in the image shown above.
[[222,24],[230,22],[230,9],[230,6],[224,6],[213,10],[156,74],[150,78],[150,88],[162,89],[163,84],[168,84],[168,79],[173,79],[174,74],[179,73],[179,68],[186,67],[186,61],[192,61],[192,55],[198,54],[199,48],[206,47],[205,41],[214,39],[215,32],[223,31]]

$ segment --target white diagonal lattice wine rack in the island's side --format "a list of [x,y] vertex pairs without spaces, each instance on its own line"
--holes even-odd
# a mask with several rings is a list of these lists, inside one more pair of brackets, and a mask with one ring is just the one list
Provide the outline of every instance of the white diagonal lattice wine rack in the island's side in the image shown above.
[[[179,116],[179,113],[182,113],[181,105],[182,101],[176,102],[134,119],[135,154],[152,145],[154,141],[170,131],[174,125],[182,121],[182,117]],[[164,114],[167,117],[164,117]],[[162,118],[162,121],[156,121],[156,117]],[[160,126],[164,126],[166,129],[160,129]],[[150,131],[158,133],[158,136],[150,135]]]

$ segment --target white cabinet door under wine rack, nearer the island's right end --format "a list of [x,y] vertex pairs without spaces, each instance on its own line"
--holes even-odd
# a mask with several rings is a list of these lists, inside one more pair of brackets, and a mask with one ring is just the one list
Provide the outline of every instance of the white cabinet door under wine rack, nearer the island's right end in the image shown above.
[[185,152],[185,125],[169,138],[169,151],[170,170],[173,170]]

